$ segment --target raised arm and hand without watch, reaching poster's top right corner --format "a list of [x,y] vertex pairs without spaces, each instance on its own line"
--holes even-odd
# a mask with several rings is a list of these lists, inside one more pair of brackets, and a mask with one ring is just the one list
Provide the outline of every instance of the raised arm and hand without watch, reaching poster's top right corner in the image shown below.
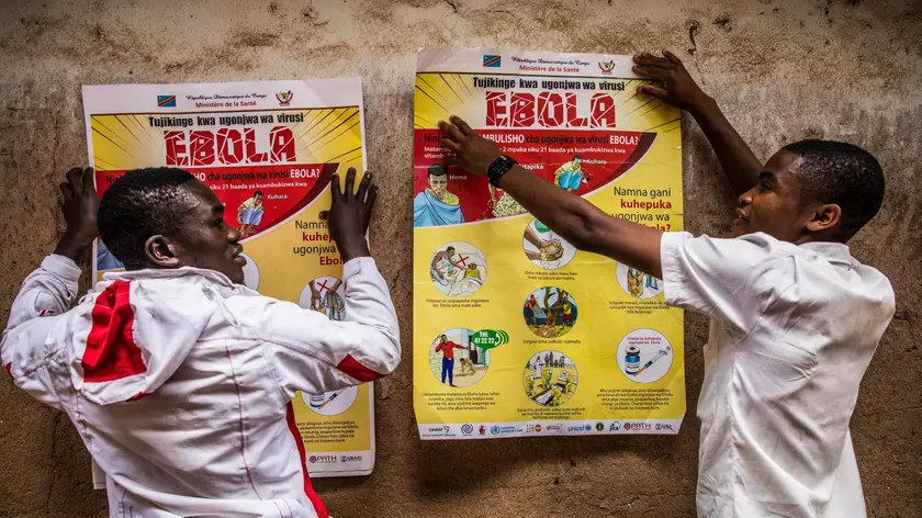
[[662,88],[646,85],[638,91],[690,113],[710,142],[733,191],[738,195],[749,191],[755,185],[762,162],[723,116],[717,101],[692,79],[682,60],[668,50],[663,56],[646,53],[634,56],[636,72],[663,82]]

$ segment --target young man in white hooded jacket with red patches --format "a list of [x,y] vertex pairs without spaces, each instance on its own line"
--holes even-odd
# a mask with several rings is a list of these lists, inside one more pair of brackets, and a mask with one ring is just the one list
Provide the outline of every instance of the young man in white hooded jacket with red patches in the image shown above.
[[[105,192],[68,172],[67,230],[23,283],[0,344],[16,385],[67,413],[105,473],[110,516],[328,517],[291,401],[396,369],[400,331],[366,230],[376,188],[333,179],[342,322],[243,285],[240,232],[179,169],[130,171]],[[70,308],[98,235],[127,271]]]

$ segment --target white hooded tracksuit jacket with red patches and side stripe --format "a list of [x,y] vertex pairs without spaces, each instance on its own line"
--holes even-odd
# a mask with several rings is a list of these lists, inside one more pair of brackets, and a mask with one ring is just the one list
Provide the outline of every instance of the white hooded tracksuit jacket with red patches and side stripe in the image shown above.
[[344,322],[193,268],[106,274],[69,309],[79,277],[61,256],[29,275],[0,358],[16,385],[67,412],[105,472],[110,516],[328,516],[291,399],[400,363],[371,258],[344,267]]

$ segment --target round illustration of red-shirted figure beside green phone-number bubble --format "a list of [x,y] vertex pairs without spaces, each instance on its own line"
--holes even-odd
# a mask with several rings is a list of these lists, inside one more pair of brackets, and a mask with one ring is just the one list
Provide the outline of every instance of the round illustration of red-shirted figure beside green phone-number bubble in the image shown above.
[[474,331],[463,327],[448,329],[429,345],[429,370],[440,383],[465,387],[483,380],[490,369],[490,350],[471,342]]

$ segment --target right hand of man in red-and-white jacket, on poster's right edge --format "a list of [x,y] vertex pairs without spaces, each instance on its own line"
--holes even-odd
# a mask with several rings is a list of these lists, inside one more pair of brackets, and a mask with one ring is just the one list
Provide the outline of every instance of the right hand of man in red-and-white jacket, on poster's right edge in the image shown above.
[[351,167],[346,172],[345,191],[339,187],[339,174],[334,174],[330,183],[333,203],[328,212],[321,213],[321,217],[329,223],[329,235],[339,248],[342,262],[371,256],[366,234],[378,198],[378,185],[371,173],[366,172],[358,192],[355,190],[356,169]]

